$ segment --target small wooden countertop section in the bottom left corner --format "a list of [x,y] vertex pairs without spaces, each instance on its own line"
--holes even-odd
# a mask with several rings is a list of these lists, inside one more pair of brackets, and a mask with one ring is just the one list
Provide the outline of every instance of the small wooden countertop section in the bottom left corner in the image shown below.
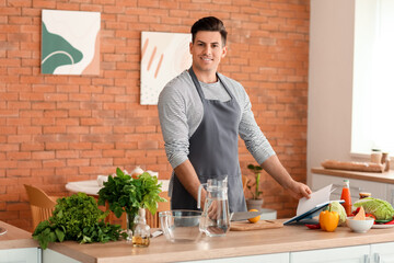
[[0,227],[7,229],[7,232],[0,236],[0,250],[38,247],[37,241],[32,239],[31,232],[3,221],[0,221]]

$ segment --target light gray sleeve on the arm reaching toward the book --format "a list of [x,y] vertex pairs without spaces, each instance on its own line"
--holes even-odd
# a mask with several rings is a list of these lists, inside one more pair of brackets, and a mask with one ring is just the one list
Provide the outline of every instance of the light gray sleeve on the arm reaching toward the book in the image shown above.
[[[243,87],[241,87],[244,91]],[[244,91],[241,104],[240,137],[245,141],[246,149],[251,152],[258,164],[276,155],[268,139],[258,127],[252,112],[252,103]]]

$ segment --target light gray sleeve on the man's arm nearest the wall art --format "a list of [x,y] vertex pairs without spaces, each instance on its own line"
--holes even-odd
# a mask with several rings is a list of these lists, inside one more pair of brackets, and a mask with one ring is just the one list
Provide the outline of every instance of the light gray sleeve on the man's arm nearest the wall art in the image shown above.
[[189,153],[186,103],[181,92],[167,84],[160,93],[158,111],[165,153],[170,164],[175,169],[188,159]]

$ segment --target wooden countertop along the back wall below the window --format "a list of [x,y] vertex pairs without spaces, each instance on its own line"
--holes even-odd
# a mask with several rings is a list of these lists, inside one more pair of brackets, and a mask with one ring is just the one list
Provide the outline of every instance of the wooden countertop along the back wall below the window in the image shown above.
[[390,183],[394,184],[394,170],[389,172],[375,173],[375,172],[357,172],[357,171],[346,171],[346,170],[334,170],[334,169],[324,169],[324,168],[312,168],[312,173],[326,174],[338,178],[348,178],[348,179],[359,179],[372,182],[380,183]]

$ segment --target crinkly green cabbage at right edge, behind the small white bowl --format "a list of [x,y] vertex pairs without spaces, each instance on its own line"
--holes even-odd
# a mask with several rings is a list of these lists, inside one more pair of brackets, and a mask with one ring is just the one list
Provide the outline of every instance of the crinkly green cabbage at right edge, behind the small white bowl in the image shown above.
[[362,206],[366,213],[370,213],[376,217],[376,220],[391,220],[394,216],[393,206],[379,198],[367,197],[357,201],[354,204],[354,207]]

